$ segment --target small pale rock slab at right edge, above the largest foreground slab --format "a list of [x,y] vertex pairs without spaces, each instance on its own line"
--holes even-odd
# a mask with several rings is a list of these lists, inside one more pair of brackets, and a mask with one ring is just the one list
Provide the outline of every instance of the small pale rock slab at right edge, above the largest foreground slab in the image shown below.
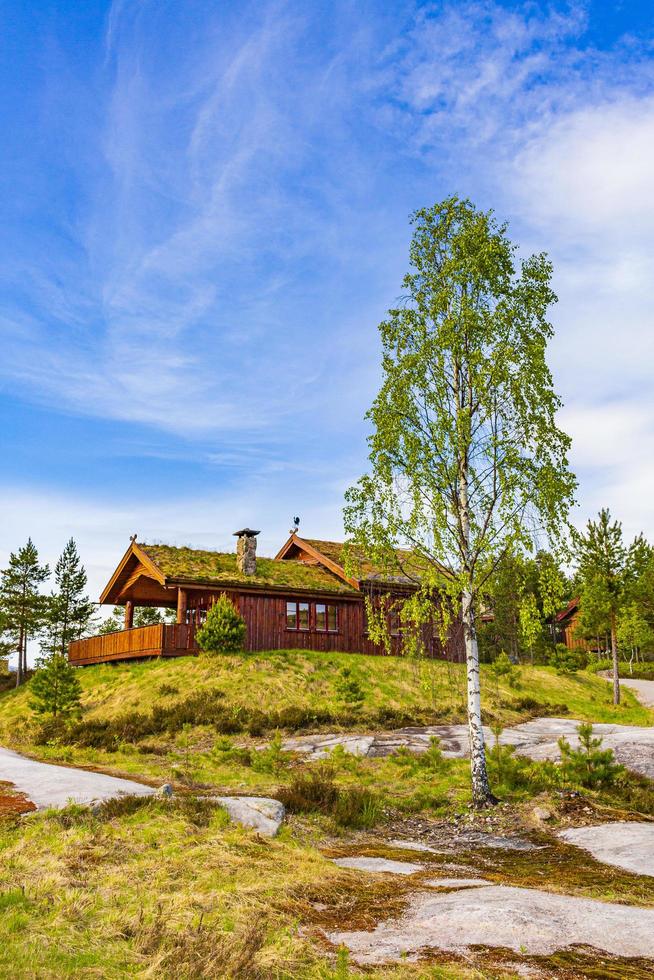
[[[561,831],[569,844],[590,851],[596,861],[654,877],[654,823],[603,823]],[[654,942],[653,942],[654,945]]]

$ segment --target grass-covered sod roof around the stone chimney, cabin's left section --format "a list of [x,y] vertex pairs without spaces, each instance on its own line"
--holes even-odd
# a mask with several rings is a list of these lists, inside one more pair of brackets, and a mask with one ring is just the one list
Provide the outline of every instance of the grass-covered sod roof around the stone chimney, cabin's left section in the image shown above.
[[233,552],[200,551],[195,548],[175,548],[167,544],[140,542],[138,546],[167,579],[176,581],[357,594],[347,582],[319,565],[306,565],[300,561],[275,561],[274,558],[257,556],[256,573],[243,575],[238,570]]

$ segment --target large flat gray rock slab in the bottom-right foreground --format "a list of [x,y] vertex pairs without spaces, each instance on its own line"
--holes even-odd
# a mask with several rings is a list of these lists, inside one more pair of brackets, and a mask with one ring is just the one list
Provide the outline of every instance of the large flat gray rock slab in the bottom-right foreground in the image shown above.
[[331,932],[358,963],[415,960],[424,948],[505,946],[547,955],[576,944],[615,956],[651,956],[654,909],[502,885],[420,892],[399,918],[372,931]]

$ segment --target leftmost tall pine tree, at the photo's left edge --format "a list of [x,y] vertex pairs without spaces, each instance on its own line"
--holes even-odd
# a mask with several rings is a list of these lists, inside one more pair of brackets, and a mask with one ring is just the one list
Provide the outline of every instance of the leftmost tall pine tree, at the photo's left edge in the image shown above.
[[25,680],[27,644],[44,625],[47,598],[39,586],[50,575],[47,565],[39,564],[39,553],[32,539],[16,554],[9,556],[9,566],[0,572],[0,622],[3,652],[18,654],[16,686]]

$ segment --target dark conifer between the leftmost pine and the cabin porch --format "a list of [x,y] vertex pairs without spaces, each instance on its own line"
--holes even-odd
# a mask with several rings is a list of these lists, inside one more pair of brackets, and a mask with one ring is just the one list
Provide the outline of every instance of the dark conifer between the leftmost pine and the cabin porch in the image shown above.
[[92,629],[94,604],[85,595],[86,582],[86,571],[71,538],[55,566],[56,588],[48,603],[44,651],[66,657],[69,644]]

